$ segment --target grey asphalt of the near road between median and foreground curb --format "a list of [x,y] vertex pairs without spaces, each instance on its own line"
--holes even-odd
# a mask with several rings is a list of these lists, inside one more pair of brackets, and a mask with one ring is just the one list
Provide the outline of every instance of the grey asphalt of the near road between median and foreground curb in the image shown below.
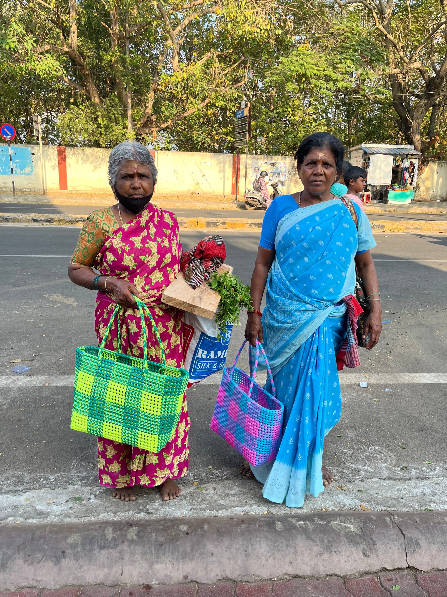
[[[18,358],[31,367],[27,375],[73,374],[76,347],[95,344],[95,293],[67,278],[78,235],[76,227],[0,227],[0,376],[9,374],[10,361]],[[226,262],[249,284],[259,232],[222,235]],[[201,236],[182,232],[184,247]],[[359,370],[445,373],[446,236],[378,234],[376,240],[383,320],[391,322],[384,324],[377,350],[361,350]],[[242,315],[234,330],[228,363],[243,340],[245,321]],[[241,360],[247,364],[244,356]],[[203,385],[188,390],[191,473],[214,475],[212,466],[222,479],[236,479],[241,457],[209,429],[217,391]],[[70,430],[72,392],[69,387],[2,388],[2,490],[45,482],[54,488],[97,484],[95,438]],[[343,399],[342,420],[325,441],[325,463],[337,479],[447,476],[445,385],[344,386]]]

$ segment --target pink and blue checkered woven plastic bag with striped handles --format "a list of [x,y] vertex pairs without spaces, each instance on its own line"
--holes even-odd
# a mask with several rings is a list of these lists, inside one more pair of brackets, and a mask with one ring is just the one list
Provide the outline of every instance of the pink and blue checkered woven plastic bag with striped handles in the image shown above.
[[[283,432],[283,404],[275,398],[275,384],[262,344],[256,341],[252,376],[236,368],[244,340],[232,367],[225,367],[211,421],[211,429],[247,458],[253,466],[274,460]],[[260,387],[256,376],[261,349],[273,394]]]

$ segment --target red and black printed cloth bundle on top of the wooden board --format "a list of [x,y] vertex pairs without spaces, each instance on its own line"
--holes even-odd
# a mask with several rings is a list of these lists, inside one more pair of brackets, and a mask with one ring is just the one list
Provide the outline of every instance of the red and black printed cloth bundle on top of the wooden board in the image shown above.
[[225,257],[225,243],[222,236],[218,234],[206,236],[191,251],[183,254],[180,269],[185,275],[185,282],[195,290],[204,281],[209,280],[218,267],[221,267]]

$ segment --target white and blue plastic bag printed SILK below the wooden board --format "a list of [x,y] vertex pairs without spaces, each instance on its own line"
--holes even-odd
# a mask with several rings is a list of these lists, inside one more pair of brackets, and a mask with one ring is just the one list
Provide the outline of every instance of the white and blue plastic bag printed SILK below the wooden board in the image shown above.
[[225,367],[232,328],[228,324],[226,334],[218,340],[219,326],[214,319],[185,311],[183,354],[184,368],[190,374],[188,387]]

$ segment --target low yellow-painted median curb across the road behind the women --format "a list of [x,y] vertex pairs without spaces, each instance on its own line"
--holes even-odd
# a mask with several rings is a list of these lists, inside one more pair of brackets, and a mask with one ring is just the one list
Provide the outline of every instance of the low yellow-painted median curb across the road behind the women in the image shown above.
[[[85,216],[54,216],[50,214],[0,214],[0,223],[3,224],[41,224],[51,226],[83,226]],[[260,230],[262,219],[248,220],[244,218],[177,218],[179,226],[183,229],[209,229],[221,230]],[[373,232],[447,232],[447,221],[422,221],[422,220],[374,220],[371,221]]]

